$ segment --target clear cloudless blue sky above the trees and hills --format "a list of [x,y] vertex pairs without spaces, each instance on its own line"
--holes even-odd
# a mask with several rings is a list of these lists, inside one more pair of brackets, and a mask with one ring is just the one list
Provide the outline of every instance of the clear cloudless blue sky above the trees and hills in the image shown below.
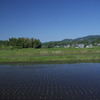
[[88,35],[100,35],[100,0],[0,0],[0,40]]

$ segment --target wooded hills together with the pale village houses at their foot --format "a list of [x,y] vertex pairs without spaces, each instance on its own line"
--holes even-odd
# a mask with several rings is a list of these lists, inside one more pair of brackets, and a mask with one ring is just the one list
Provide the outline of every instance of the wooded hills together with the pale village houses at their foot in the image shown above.
[[92,48],[100,46],[100,35],[89,35],[76,39],[64,39],[62,41],[50,41],[42,44],[43,48]]

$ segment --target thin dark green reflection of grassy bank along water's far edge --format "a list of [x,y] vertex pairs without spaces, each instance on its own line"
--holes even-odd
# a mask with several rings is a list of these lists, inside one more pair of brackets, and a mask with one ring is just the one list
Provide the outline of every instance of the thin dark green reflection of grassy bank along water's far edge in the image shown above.
[[61,60],[44,62],[0,62],[0,65],[33,65],[33,64],[75,64],[75,63],[100,63],[100,59],[95,60]]

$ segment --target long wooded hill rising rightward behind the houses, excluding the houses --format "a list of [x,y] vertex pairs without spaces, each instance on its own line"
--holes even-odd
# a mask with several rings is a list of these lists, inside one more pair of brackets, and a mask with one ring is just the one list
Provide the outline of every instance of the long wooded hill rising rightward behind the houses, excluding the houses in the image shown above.
[[100,35],[89,35],[85,37],[79,37],[76,39],[64,39],[62,41],[50,41],[43,43],[43,46],[57,46],[57,45],[67,45],[67,44],[77,44],[77,43],[100,43]]

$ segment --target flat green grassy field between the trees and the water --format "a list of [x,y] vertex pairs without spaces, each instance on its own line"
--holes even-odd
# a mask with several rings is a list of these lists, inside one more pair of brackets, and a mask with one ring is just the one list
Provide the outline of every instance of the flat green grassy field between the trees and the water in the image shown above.
[[100,60],[100,47],[0,49],[0,62],[59,62]]

